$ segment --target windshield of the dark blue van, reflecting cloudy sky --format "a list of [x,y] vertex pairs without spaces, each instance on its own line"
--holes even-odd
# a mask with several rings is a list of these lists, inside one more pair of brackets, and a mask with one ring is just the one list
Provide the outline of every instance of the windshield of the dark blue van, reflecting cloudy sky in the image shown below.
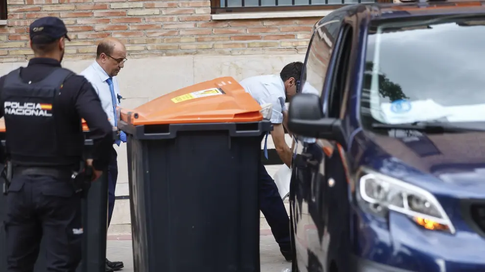
[[485,16],[384,21],[367,40],[364,127],[485,121]]

